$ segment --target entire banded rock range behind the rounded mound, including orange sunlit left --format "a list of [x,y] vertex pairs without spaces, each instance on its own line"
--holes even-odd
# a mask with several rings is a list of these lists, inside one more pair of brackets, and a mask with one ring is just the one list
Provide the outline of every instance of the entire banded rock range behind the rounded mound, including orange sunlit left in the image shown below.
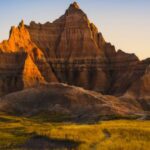
[[52,23],[11,28],[0,44],[0,95],[61,82],[137,100],[147,110],[149,66],[150,59],[116,51],[74,2]]

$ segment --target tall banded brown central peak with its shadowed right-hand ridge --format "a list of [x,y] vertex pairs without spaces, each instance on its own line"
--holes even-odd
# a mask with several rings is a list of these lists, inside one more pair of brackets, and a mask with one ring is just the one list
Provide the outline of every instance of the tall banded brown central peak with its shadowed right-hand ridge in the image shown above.
[[76,3],[53,23],[31,22],[27,28],[60,82],[122,95],[150,64],[142,66],[134,54],[116,52]]

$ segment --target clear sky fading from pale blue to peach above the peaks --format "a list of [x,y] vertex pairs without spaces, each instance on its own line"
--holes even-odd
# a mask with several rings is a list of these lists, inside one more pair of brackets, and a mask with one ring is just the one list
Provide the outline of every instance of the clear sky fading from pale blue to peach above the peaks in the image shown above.
[[[64,14],[73,0],[0,0],[0,41],[23,19],[45,23]],[[76,0],[105,40],[140,59],[150,57],[150,0]]]

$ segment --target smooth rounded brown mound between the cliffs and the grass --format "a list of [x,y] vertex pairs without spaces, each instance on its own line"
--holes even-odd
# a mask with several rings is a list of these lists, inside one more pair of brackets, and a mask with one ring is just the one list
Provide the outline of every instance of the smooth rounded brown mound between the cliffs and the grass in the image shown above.
[[68,115],[75,120],[95,120],[103,115],[127,115],[140,112],[140,107],[121,102],[113,96],[86,91],[65,84],[46,84],[9,94],[0,99],[0,111],[36,116],[51,113]]

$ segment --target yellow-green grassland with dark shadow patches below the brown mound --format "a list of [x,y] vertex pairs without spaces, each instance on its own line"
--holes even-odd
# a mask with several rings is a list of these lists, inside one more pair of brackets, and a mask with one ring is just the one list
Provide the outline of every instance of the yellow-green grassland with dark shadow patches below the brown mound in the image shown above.
[[50,123],[0,113],[0,149],[149,150],[150,121]]

